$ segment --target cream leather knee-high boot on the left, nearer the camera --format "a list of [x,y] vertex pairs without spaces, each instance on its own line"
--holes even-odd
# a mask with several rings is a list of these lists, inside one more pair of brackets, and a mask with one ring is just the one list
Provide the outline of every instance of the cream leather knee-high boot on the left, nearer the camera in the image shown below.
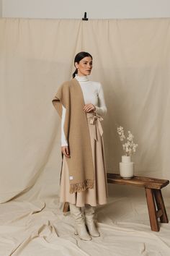
[[75,234],[79,234],[80,239],[89,241],[91,240],[91,236],[89,236],[88,232],[86,231],[86,225],[84,221],[84,216],[82,214],[81,208],[77,207],[76,205],[69,204],[71,216],[75,221]]

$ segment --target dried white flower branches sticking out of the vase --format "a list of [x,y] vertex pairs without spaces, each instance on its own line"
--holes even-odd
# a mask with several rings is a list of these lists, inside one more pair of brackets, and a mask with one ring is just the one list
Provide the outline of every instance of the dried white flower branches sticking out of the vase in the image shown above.
[[128,131],[128,137],[126,138],[123,127],[117,127],[117,133],[120,137],[121,142],[127,140],[124,144],[122,144],[122,148],[125,151],[125,155],[133,155],[133,153],[135,153],[136,151],[136,148],[138,147],[138,144],[135,144],[133,142],[134,136],[132,135],[132,133]]

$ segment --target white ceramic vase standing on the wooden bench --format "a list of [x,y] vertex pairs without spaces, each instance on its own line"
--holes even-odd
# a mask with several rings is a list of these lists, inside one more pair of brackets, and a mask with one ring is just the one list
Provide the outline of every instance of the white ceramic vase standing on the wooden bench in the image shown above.
[[131,179],[134,176],[134,165],[130,155],[122,155],[120,162],[120,176],[123,179]]

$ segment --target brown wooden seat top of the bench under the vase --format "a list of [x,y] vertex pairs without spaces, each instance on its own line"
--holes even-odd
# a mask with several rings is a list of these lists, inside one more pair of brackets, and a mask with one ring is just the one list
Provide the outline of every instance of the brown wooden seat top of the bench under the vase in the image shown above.
[[120,174],[108,174],[107,182],[122,185],[133,185],[137,187],[146,187],[149,189],[161,189],[169,184],[168,179],[155,179],[151,177],[133,176],[132,179],[122,179]]

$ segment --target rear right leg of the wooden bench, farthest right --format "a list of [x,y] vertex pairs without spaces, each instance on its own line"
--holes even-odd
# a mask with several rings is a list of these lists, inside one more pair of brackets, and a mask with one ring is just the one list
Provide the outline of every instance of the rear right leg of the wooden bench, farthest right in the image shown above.
[[159,217],[161,223],[169,223],[169,219],[166,214],[166,208],[164,205],[164,200],[163,200],[163,197],[161,194],[161,189],[153,189],[153,193],[155,196],[157,208],[158,208],[158,210],[161,210],[161,215]]

